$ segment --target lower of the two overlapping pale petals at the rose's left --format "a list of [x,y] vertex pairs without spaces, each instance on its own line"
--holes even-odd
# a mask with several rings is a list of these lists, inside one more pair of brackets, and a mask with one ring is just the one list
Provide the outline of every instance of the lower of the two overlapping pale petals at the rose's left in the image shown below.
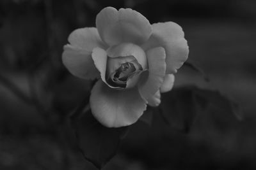
[[62,60],[68,71],[79,78],[94,79],[99,77],[99,71],[93,64],[91,52],[65,45]]

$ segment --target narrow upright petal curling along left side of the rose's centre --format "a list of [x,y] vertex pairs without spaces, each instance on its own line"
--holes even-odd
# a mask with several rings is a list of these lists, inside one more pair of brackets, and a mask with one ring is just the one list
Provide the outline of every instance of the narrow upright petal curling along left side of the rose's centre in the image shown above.
[[106,51],[99,47],[93,48],[92,59],[94,61],[96,68],[100,72],[101,80],[104,81],[104,83],[106,83],[106,68],[108,60]]

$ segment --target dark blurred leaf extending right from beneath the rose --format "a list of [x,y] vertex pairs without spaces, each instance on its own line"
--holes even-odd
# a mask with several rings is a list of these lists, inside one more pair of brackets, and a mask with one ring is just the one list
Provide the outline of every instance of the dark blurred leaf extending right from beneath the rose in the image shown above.
[[198,89],[198,87],[180,87],[162,94],[162,115],[166,122],[180,131],[188,132],[199,113],[234,115],[241,120],[239,105],[230,101],[220,92]]

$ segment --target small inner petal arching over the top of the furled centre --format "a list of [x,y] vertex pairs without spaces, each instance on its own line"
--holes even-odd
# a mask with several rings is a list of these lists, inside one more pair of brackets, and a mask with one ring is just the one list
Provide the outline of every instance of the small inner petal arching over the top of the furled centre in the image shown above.
[[139,64],[143,69],[147,68],[146,54],[144,50],[142,50],[142,48],[140,48],[140,46],[138,45],[134,45],[132,43],[122,43],[120,45],[111,46],[110,48],[108,48],[107,53],[109,57],[113,58],[127,57],[132,55],[138,60]]

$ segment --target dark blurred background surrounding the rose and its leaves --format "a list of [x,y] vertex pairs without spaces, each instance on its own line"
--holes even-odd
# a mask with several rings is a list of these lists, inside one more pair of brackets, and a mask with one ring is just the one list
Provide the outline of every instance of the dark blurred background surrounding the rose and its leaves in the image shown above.
[[1,0],[0,169],[95,169],[65,138],[65,116],[90,82],[71,76],[61,53],[70,32],[95,27],[106,6],[132,8],[151,24],[181,25],[188,61],[210,81],[184,66],[175,89],[219,90],[240,104],[243,120],[202,114],[180,132],[156,116],[152,127],[131,127],[104,169],[256,169],[254,0]]

